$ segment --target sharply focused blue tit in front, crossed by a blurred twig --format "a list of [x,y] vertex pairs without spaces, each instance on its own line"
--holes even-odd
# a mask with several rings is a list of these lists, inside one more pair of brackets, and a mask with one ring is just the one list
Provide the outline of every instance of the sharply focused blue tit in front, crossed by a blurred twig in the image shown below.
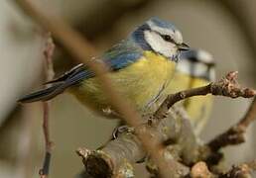
[[[187,49],[189,46],[174,25],[151,18],[126,40],[113,45],[94,60],[103,61],[109,67],[107,75],[114,87],[138,112],[144,112],[162,96],[173,78],[181,51]],[[113,113],[118,116],[97,77],[84,64],[48,83],[53,85],[26,95],[19,102],[47,101],[68,91],[91,110],[109,118],[113,118]]]

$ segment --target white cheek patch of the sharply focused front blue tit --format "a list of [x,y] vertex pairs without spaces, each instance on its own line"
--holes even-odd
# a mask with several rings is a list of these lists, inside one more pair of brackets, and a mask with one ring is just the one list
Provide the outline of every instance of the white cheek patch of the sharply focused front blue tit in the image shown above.
[[172,57],[177,54],[177,46],[172,43],[164,41],[162,37],[160,37],[160,35],[158,35],[157,33],[146,31],[144,32],[144,36],[146,42],[156,52],[159,52],[167,57]]

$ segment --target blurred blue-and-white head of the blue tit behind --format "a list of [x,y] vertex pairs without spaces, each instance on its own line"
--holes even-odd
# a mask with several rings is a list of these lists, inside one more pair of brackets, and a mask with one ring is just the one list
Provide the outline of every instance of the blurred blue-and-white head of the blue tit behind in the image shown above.
[[177,70],[210,82],[215,80],[214,59],[210,53],[202,49],[183,51]]

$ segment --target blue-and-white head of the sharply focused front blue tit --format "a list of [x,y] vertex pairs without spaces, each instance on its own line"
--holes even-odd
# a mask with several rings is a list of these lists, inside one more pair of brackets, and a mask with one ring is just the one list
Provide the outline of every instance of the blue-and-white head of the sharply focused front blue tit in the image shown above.
[[172,60],[178,60],[181,50],[188,50],[182,33],[171,23],[151,18],[138,27],[131,38],[145,50],[152,50]]

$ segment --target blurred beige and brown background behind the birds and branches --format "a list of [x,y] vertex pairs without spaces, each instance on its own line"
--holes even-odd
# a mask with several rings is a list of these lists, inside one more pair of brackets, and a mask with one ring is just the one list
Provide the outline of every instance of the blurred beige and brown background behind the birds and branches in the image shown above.
[[[98,53],[126,38],[152,16],[173,22],[189,45],[213,54],[218,78],[227,71],[238,70],[239,82],[256,88],[256,1],[38,1],[45,12],[61,16],[82,33]],[[44,157],[42,104],[21,106],[16,100],[44,81],[44,45],[40,29],[12,1],[0,0],[0,177],[38,177]],[[57,74],[74,64],[58,45]],[[244,115],[249,104],[248,99],[215,97],[211,119],[201,138],[207,141],[229,128]],[[116,123],[95,116],[67,94],[54,99],[51,177],[74,177],[83,168],[74,150],[79,146],[97,148],[109,138]],[[256,158],[255,134],[254,124],[246,143],[224,150],[227,165]],[[136,177],[146,177],[142,168],[136,172]]]

